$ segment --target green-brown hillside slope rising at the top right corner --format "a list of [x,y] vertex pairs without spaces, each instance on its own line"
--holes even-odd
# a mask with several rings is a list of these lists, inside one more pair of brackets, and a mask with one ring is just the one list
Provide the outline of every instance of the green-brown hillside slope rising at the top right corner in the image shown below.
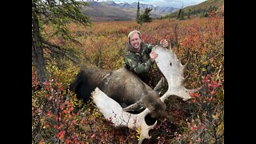
[[[187,6],[183,9],[183,14],[193,14],[194,16],[199,16],[206,10],[209,10],[210,7],[217,7],[218,10],[222,10],[224,12],[224,0],[206,0],[205,2],[199,3],[194,6]],[[178,10],[171,14],[166,14],[166,16],[162,18],[174,18],[177,17]]]

